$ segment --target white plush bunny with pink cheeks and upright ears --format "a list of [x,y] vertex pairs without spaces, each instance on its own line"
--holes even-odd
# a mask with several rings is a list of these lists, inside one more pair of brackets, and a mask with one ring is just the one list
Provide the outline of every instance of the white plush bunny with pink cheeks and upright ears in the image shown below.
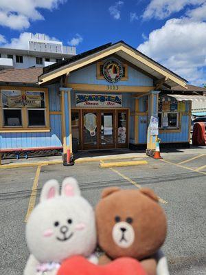
[[54,275],[60,263],[73,255],[95,261],[95,214],[81,197],[76,179],[64,179],[61,195],[58,182],[47,181],[27,221],[26,240],[31,255],[25,275]]

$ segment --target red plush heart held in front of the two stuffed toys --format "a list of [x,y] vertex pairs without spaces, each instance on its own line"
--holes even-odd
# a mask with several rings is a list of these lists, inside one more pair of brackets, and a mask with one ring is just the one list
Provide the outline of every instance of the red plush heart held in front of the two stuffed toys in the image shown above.
[[119,258],[108,265],[94,265],[82,256],[63,261],[57,275],[147,275],[132,258]]

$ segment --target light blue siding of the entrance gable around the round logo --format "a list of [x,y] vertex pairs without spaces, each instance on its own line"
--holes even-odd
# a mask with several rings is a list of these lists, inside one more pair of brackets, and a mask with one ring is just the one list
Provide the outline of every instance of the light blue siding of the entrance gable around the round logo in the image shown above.
[[[115,59],[115,58],[113,58]],[[117,60],[117,59],[116,59]],[[106,60],[105,60],[106,61]],[[89,65],[83,69],[79,69],[76,72],[71,72],[69,76],[69,83],[84,83],[84,84],[99,84],[99,85],[111,85],[108,81],[103,79],[97,79],[96,64]],[[118,86],[153,86],[152,78],[142,74],[141,72],[128,66],[128,80],[119,81]]]

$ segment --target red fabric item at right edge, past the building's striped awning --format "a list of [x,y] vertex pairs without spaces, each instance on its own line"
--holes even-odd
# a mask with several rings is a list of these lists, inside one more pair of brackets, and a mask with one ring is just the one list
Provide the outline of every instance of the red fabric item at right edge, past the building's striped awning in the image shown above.
[[206,145],[205,123],[197,122],[193,127],[192,145]]

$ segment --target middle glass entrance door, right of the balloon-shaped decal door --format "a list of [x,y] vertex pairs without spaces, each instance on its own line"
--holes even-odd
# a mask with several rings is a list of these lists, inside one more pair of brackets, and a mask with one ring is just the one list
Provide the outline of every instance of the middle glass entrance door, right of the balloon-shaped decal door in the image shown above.
[[100,110],[100,148],[115,148],[115,111]]

